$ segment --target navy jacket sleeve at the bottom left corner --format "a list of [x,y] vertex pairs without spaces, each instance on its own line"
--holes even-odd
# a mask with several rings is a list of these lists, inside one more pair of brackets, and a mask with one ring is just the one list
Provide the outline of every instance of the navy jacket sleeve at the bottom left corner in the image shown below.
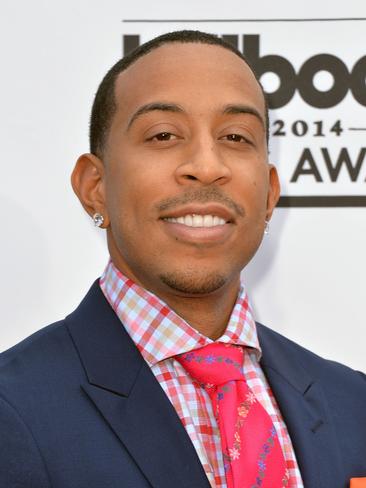
[[18,412],[0,397],[0,486],[51,488],[39,449]]

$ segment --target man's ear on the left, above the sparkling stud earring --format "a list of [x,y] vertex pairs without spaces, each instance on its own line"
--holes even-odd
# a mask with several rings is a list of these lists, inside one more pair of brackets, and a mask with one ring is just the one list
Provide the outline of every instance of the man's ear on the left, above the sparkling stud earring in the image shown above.
[[108,227],[103,162],[94,154],[82,154],[76,161],[71,175],[71,184],[88,214],[90,216],[96,212],[102,214],[104,218],[102,227]]

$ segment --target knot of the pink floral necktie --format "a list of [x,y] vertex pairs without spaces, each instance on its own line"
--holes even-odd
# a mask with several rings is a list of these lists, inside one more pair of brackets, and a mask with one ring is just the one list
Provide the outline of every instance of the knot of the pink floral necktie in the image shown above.
[[214,342],[176,356],[186,371],[202,385],[222,385],[243,379],[243,349]]

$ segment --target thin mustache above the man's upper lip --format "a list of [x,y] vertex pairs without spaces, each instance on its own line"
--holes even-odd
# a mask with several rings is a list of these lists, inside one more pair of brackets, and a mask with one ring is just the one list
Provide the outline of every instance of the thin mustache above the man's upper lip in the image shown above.
[[195,190],[190,190],[183,195],[179,195],[172,198],[166,198],[158,204],[156,204],[156,209],[159,212],[166,212],[172,210],[175,207],[186,205],[187,203],[221,203],[230,210],[234,211],[236,215],[244,217],[245,210],[244,207],[237,204],[229,198],[227,195],[222,193],[218,188],[199,188]]

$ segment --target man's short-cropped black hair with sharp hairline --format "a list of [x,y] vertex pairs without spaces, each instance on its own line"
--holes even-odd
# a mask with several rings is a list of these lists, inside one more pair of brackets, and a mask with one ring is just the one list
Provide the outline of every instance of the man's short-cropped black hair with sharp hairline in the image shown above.
[[173,42],[179,43],[199,43],[199,44],[211,44],[221,46],[229,51],[233,52],[239,58],[241,58],[251,69],[259,86],[262,89],[264,103],[265,103],[265,123],[266,123],[266,137],[268,142],[268,102],[266,94],[259,82],[258,77],[255,74],[253,67],[250,65],[245,56],[232,44],[224,41],[220,37],[214,34],[208,34],[206,32],[194,31],[194,30],[181,30],[169,32],[161,36],[155,37],[151,41],[148,41],[141,46],[137,47],[124,58],[117,61],[115,65],[108,71],[100,83],[96,92],[91,117],[90,117],[90,131],[89,142],[90,152],[98,157],[102,157],[105,148],[108,132],[112,123],[113,116],[117,109],[115,100],[114,87],[117,76],[126,70],[131,64],[140,59],[145,54],[157,49],[158,47]]

